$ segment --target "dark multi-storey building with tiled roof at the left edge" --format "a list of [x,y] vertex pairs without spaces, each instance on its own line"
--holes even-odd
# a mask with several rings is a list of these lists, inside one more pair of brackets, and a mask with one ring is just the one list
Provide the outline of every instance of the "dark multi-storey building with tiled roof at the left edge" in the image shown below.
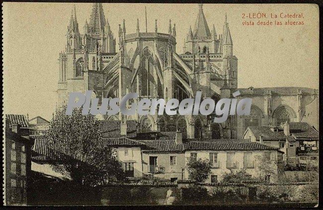
[[[6,114],[4,203],[27,205],[27,190],[31,173],[31,145],[28,122],[24,115]],[[27,134],[27,135],[26,135]]]

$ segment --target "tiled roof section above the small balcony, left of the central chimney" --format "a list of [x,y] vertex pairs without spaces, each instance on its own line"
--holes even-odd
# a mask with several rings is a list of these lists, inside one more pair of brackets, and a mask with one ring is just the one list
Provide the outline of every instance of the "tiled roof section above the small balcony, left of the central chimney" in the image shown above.
[[147,145],[145,152],[182,152],[183,144],[176,144],[175,140],[141,140]]

